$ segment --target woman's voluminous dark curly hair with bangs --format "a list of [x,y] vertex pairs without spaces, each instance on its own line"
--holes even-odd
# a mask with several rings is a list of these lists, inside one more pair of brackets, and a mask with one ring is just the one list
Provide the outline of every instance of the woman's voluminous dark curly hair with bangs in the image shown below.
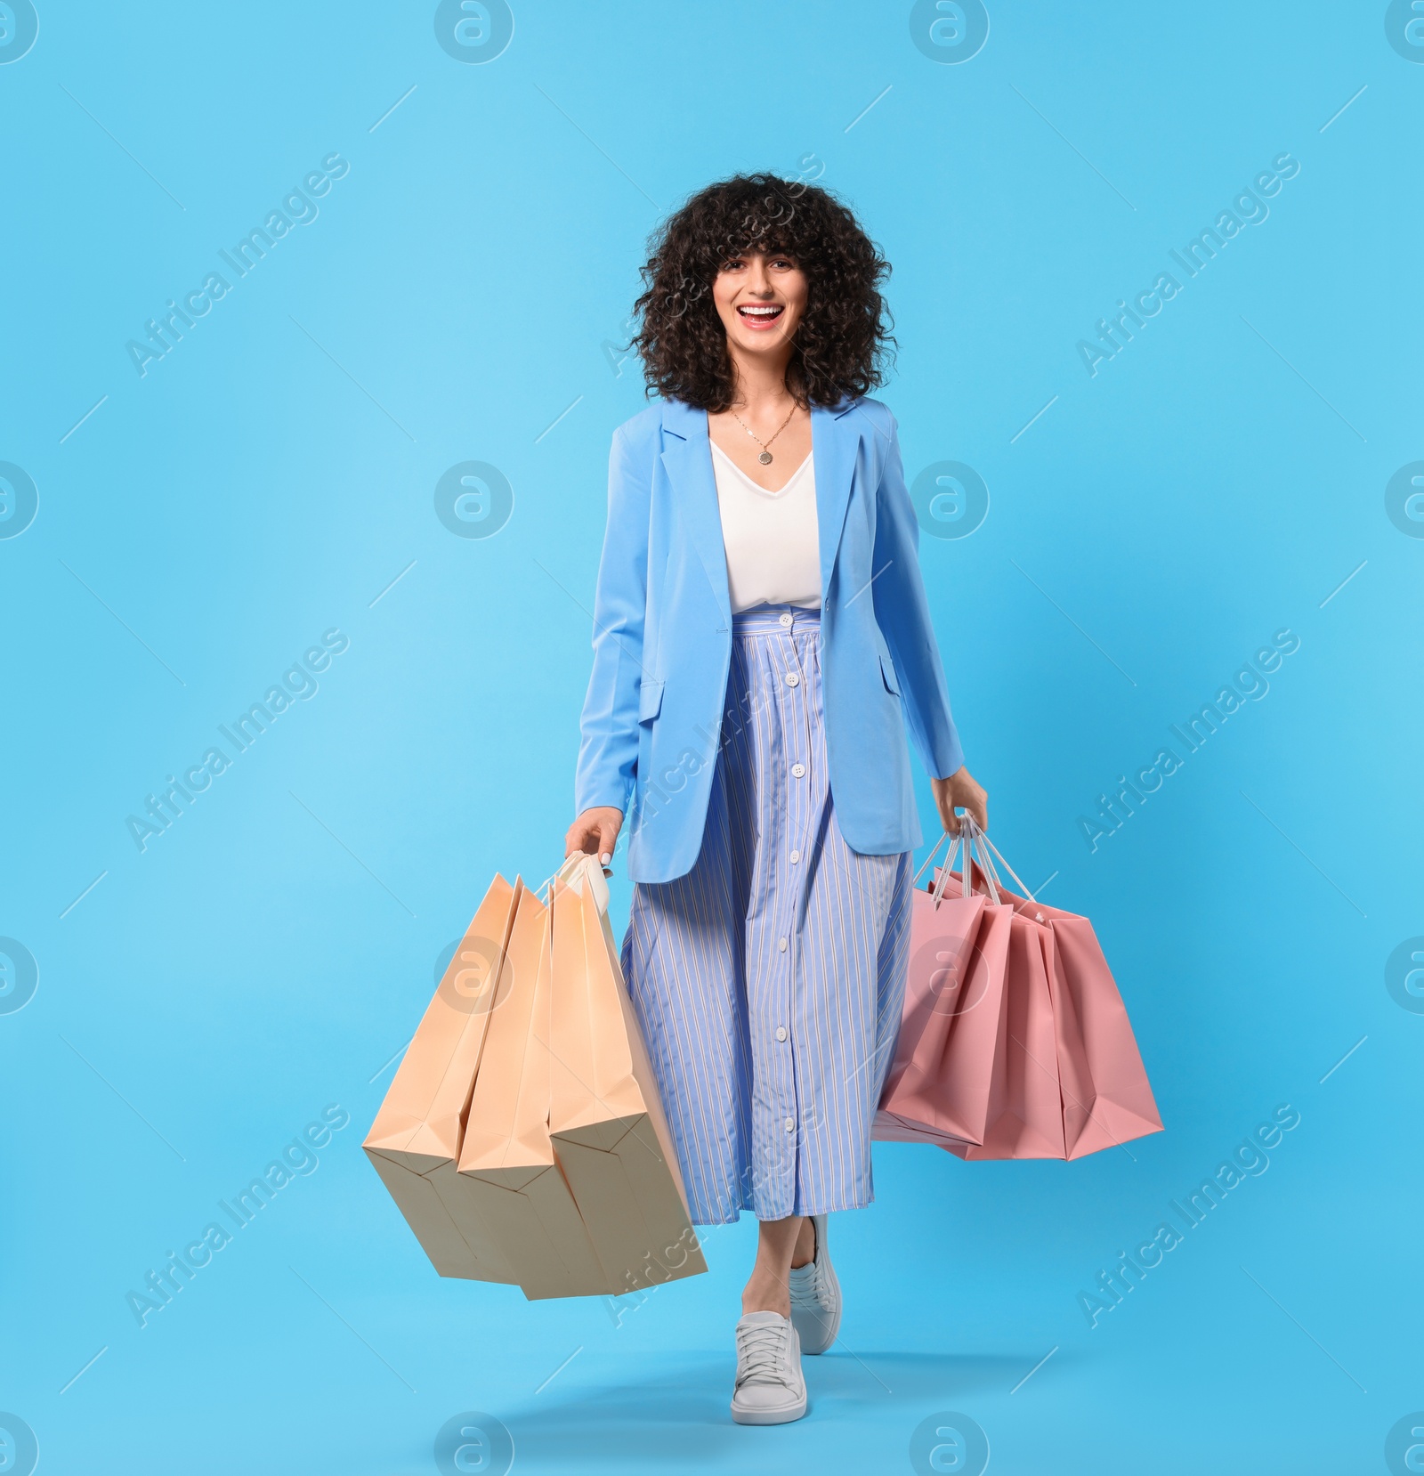
[[890,264],[860,223],[819,186],[735,174],[698,190],[649,242],[633,307],[649,396],[713,412],[732,404],[711,285],[725,261],[750,251],[784,251],[806,273],[806,313],[787,366],[787,388],[801,406],[837,404],[884,382],[894,338],[879,286]]

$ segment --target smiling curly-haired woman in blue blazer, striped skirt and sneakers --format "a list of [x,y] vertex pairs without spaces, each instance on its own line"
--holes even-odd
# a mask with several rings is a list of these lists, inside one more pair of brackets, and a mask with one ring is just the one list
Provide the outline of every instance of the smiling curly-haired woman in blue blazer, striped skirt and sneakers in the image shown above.
[[921,834],[964,768],[881,382],[888,267],[825,190],[695,195],[643,267],[661,403],[614,432],[565,852],[629,816],[623,967],[699,1225],[760,1221],[732,1417],[806,1413],[841,1297],[826,1215],[869,1203]]

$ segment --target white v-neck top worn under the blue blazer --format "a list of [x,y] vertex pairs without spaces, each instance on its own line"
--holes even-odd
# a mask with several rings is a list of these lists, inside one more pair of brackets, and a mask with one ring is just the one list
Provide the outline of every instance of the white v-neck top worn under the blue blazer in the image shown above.
[[758,487],[716,443],[713,475],[733,614],[754,605],[820,608],[820,542],[812,456],[785,487]]

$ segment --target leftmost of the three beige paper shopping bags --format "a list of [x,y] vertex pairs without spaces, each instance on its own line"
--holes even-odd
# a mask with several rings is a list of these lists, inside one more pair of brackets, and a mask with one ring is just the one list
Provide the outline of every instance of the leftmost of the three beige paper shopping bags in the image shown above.
[[491,1015],[515,982],[506,945],[522,892],[518,880],[490,883],[363,1144],[443,1277],[515,1280],[475,1207],[441,1185],[454,1179]]

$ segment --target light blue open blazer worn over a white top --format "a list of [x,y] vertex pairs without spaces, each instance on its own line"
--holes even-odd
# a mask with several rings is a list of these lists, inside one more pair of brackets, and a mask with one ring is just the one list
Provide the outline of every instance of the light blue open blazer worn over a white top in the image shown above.
[[[928,772],[964,763],[930,626],[894,416],[812,409],[826,762],[851,850],[919,844],[906,726]],[[614,432],[576,803],[627,816],[629,875],[671,881],[702,846],[732,657],[707,412],[649,406]]]

